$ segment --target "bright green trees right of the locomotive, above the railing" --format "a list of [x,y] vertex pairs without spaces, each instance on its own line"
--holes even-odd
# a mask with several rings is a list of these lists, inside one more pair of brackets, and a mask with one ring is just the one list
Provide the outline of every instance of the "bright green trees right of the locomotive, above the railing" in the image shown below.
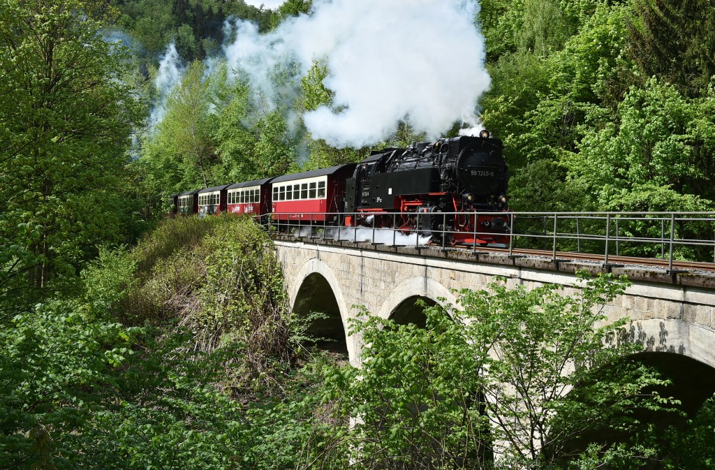
[[[483,120],[505,141],[515,207],[556,210],[564,200],[565,210],[711,207],[711,72],[693,72],[709,67],[696,57],[710,19],[699,13],[703,6],[689,5],[684,12],[658,1],[584,1],[522,17],[513,5],[485,4],[485,35],[508,39],[488,64],[495,85],[483,99]],[[555,19],[542,21],[549,15]],[[549,36],[559,17],[563,34]],[[545,167],[566,172],[531,178]]]

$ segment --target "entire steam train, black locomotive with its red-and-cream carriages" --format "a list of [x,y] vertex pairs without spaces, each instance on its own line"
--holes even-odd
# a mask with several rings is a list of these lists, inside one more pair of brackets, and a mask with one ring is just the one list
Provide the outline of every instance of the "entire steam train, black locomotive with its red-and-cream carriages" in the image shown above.
[[508,241],[502,142],[479,137],[413,142],[338,165],[172,195],[174,214],[270,216],[292,224],[418,231],[451,244]]

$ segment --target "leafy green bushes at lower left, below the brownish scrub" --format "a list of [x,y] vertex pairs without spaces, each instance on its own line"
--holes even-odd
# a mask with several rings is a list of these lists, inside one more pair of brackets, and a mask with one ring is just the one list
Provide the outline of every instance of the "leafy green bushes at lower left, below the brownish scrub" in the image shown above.
[[0,331],[2,468],[280,470],[325,454],[320,362],[246,403],[217,386],[240,348],[201,353],[187,331],[88,324],[74,308]]

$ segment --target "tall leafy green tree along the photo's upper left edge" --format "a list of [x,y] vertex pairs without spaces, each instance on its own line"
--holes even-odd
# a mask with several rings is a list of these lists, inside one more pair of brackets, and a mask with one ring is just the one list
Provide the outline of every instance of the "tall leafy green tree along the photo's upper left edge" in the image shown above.
[[121,241],[139,109],[103,0],[0,4],[0,285],[14,307]]

